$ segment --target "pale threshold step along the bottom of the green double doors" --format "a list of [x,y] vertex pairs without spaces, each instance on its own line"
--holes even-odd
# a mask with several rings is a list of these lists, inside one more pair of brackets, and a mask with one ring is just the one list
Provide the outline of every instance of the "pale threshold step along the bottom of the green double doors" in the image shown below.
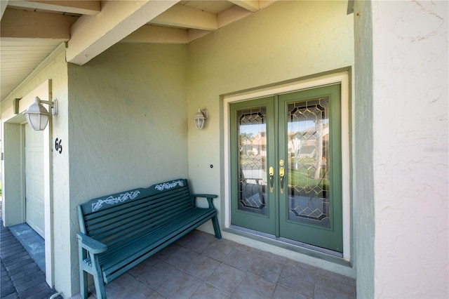
[[297,253],[302,253],[304,255],[309,255],[314,258],[320,258],[322,260],[328,260],[332,263],[351,267],[351,263],[349,263],[347,260],[344,260],[343,253],[337,251],[331,251],[326,248],[304,244],[302,242],[293,241],[286,238],[278,238],[273,234],[257,232],[255,230],[250,230],[246,227],[239,227],[236,225],[231,225],[229,228],[224,229],[224,231],[239,234],[242,237],[248,237],[256,241],[262,241],[270,245],[278,246],[290,251],[295,251]]

